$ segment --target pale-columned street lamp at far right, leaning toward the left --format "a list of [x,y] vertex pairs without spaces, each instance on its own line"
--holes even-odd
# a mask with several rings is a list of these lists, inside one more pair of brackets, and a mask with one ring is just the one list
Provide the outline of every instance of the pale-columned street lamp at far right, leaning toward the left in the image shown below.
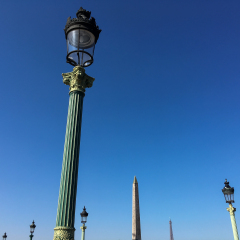
[[234,237],[234,240],[239,240],[237,224],[236,224],[236,219],[234,214],[234,212],[236,211],[236,208],[232,206],[232,203],[234,203],[234,188],[229,186],[229,182],[227,181],[227,179],[225,180],[224,184],[225,184],[225,187],[222,189],[222,192],[224,194],[226,203],[229,204],[229,208],[227,208],[227,211],[230,213],[232,229],[233,229],[233,237]]

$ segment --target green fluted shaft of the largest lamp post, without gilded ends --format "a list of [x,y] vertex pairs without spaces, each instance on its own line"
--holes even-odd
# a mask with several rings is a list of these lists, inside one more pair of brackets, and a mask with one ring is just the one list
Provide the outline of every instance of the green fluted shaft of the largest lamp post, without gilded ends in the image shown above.
[[56,227],[74,228],[84,95],[70,92]]

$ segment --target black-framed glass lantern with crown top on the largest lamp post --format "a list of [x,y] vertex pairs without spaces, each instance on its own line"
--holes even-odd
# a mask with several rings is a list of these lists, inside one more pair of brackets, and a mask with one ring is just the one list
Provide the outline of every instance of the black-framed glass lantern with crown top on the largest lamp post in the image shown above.
[[65,26],[67,40],[67,62],[73,66],[88,67],[93,63],[95,44],[101,30],[96,25],[91,12],[82,7],[77,18],[68,18]]

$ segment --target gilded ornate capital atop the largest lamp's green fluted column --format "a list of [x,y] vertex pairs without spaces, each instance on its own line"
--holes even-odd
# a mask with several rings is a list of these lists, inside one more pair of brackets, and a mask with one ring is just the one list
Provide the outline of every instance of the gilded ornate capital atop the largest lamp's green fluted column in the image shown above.
[[85,92],[85,88],[90,88],[93,85],[95,78],[88,76],[85,69],[81,66],[76,66],[70,73],[62,73],[63,83],[69,85],[70,92],[81,91]]

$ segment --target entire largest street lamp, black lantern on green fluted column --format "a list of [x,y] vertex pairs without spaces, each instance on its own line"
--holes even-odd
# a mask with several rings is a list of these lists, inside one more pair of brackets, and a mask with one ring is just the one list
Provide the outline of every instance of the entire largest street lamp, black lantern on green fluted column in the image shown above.
[[95,19],[90,18],[91,12],[81,7],[76,15],[77,18],[67,19],[64,29],[67,62],[74,68],[62,74],[70,92],[54,240],[74,240],[83,98],[85,89],[92,87],[95,80],[85,74],[84,68],[93,63],[95,44],[101,32]]

